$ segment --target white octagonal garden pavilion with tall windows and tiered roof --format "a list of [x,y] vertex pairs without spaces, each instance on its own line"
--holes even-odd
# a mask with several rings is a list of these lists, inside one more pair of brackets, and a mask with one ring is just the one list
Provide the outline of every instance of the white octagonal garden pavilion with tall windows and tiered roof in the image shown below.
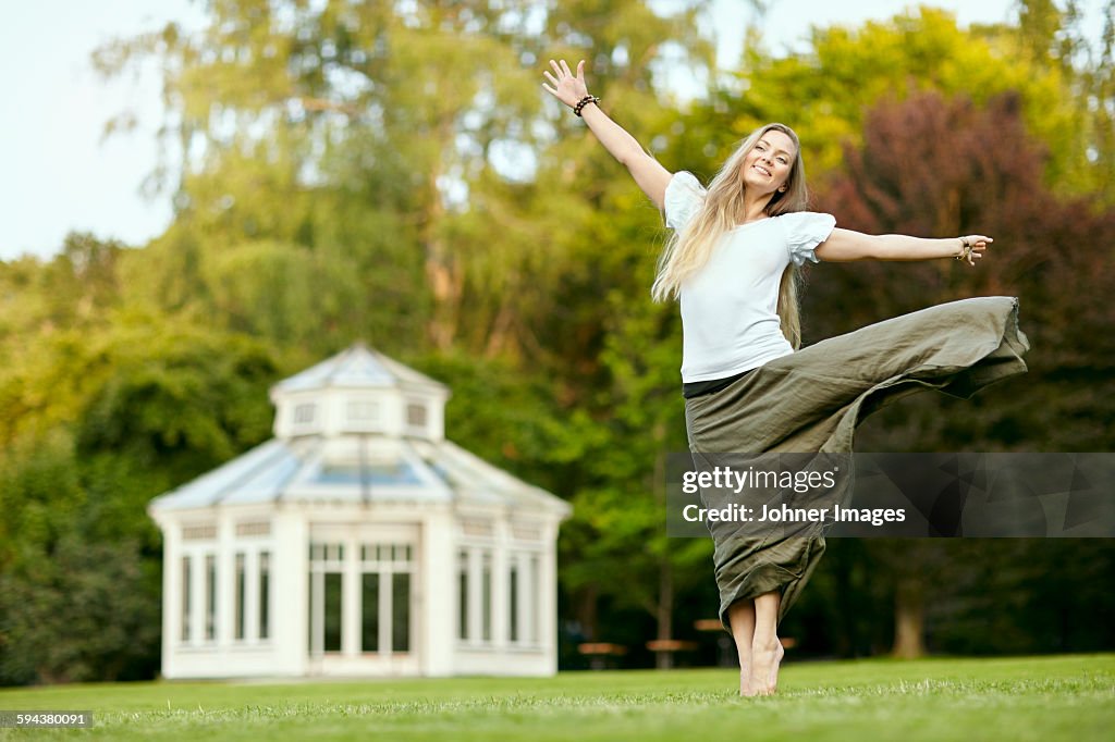
[[570,506],[445,439],[449,391],[357,344],[274,438],[154,499],[163,676],[551,675]]

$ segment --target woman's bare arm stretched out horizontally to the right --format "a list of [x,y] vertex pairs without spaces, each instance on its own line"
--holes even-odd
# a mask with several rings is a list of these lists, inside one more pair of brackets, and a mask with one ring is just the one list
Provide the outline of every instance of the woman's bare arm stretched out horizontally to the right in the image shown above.
[[904,234],[863,234],[852,230],[833,230],[817,245],[817,260],[834,263],[850,261],[931,261],[940,257],[962,257],[971,265],[983,257],[991,237],[970,234],[966,237],[932,240]]

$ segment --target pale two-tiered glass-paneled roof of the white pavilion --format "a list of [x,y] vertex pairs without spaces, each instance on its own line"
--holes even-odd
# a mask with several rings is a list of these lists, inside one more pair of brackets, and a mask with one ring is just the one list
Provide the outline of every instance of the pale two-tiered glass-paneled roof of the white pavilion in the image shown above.
[[[343,402],[378,390],[404,400],[436,399],[444,404],[449,389],[362,343],[280,381],[271,398],[290,411],[297,400],[329,397],[340,390]],[[397,390],[397,391],[396,391]],[[341,406],[341,411],[346,411]],[[397,411],[404,414],[403,411]],[[323,416],[321,416],[323,417]],[[313,419],[317,426],[318,418]],[[497,469],[445,440],[438,410],[437,435],[415,426],[380,424],[358,428],[349,421],[317,426],[298,435],[277,435],[213,471],[185,482],[152,501],[151,511],[262,502],[474,502],[511,509],[569,512],[569,504],[545,490]],[[398,420],[396,420],[398,422]],[[421,433],[421,430],[419,430]]]

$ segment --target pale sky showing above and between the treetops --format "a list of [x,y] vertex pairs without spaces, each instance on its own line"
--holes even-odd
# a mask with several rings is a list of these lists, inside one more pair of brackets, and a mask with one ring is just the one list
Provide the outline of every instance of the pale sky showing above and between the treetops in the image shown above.
[[[675,0],[651,0],[668,8]],[[715,0],[718,59],[738,58],[746,0]],[[174,20],[204,23],[198,0],[35,0],[8,3],[0,25],[0,69],[7,72],[0,116],[0,261],[49,257],[71,231],[142,245],[171,222],[169,195],[145,197],[140,186],[157,162],[163,121],[159,79],[151,67],[112,82],[98,78],[90,53],[106,41]],[[769,2],[763,23],[775,52],[799,47],[811,25],[859,26],[886,19],[900,0]],[[927,1],[961,25],[1007,20],[1012,0]],[[540,94],[541,95],[541,94]],[[107,120],[134,109],[137,128],[103,140]]]

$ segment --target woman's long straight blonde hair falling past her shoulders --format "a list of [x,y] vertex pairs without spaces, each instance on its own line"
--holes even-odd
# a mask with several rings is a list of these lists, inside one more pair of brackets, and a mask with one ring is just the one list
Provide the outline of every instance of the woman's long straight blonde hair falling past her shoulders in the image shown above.
[[[685,280],[708,262],[720,237],[744,221],[744,157],[763,135],[772,130],[788,136],[797,153],[786,178],[785,193],[776,191],[763,212],[767,216],[777,216],[806,209],[808,191],[805,187],[805,164],[802,162],[802,144],[797,135],[785,124],[767,124],[755,129],[725,160],[720,172],[709,183],[705,204],[685,228],[675,231],[666,243],[658,260],[658,275],[650,290],[655,301],[676,299]],[[793,263],[786,266],[778,285],[778,316],[783,334],[796,349],[802,343],[802,320],[797,309],[797,271]]]

